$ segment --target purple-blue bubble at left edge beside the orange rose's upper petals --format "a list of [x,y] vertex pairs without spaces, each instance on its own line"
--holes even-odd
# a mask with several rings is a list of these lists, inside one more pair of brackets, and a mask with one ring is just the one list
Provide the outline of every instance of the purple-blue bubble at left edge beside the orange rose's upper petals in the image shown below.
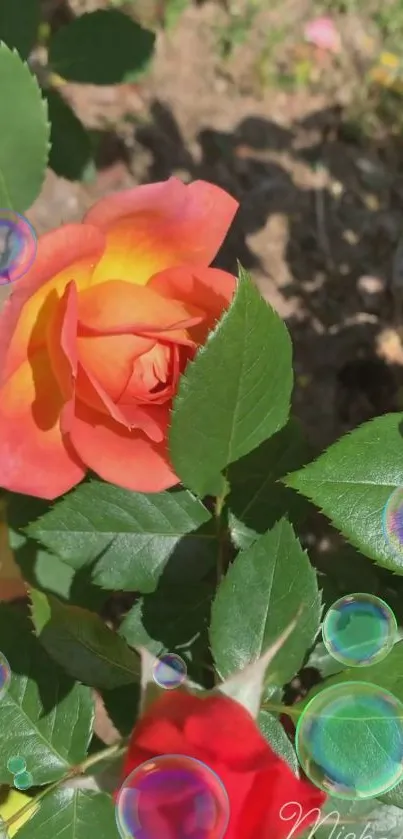
[[13,210],[0,210],[0,285],[12,283],[31,267],[36,233],[28,219]]

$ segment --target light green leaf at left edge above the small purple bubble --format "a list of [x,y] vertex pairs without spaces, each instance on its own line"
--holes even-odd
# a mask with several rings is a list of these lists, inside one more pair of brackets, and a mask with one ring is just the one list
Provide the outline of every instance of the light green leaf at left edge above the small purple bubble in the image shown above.
[[17,53],[0,44],[0,207],[24,212],[42,187],[49,147],[46,105]]

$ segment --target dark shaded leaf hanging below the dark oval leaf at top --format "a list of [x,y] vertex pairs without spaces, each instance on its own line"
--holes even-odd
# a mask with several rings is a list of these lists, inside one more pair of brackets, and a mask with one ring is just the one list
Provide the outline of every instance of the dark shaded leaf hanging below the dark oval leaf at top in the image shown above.
[[55,90],[46,94],[51,124],[49,166],[62,178],[81,181],[95,172],[92,144],[83,124]]

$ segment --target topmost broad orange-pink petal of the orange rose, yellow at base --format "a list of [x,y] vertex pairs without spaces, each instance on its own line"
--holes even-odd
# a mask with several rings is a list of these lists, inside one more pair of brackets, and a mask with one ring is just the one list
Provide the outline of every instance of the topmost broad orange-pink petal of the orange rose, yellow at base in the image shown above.
[[144,285],[173,265],[209,265],[237,209],[234,198],[205,181],[186,186],[170,178],[108,195],[85,218],[107,236],[92,284],[125,277]]

